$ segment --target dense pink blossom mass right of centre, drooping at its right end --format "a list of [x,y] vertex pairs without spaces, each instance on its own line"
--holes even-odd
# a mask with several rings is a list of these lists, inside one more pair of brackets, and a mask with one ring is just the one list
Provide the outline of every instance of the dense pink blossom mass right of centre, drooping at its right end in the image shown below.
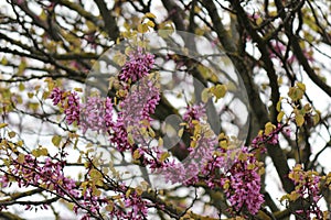
[[[183,119],[194,132],[192,121],[201,121],[203,124],[204,106],[189,107]],[[163,163],[154,163],[153,170],[163,175],[164,179],[172,184],[182,183],[190,186],[197,182],[204,182],[211,188],[224,187],[224,191],[236,211],[245,209],[252,215],[257,213],[264,202],[264,197],[260,194],[259,167],[256,165],[255,156],[248,152],[248,147],[220,148],[217,147],[217,136],[204,135],[203,132],[199,133],[199,140],[195,140],[195,147],[188,146],[190,154],[183,162],[167,160]],[[236,151],[235,154],[234,151]],[[158,153],[158,155],[161,154],[162,152]],[[231,158],[231,155],[235,155],[234,158]],[[228,186],[225,187],[225,184]]]

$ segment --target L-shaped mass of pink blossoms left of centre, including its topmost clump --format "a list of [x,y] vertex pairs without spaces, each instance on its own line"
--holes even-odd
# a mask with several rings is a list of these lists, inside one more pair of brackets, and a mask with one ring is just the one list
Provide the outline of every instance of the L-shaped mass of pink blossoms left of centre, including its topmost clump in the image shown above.
[[[53,105],[64,109],[66,122],[76,122],[83,133],[87,130],[109,134],[110,142],[119,150],[126,151],[131,147],[128,142],[128,129],[135,141],[143,142],[140,129],[147,127],[142,121],[151,121],[150,114],[160,100],[160,91],[157,81],[146,78],[154,63],[152,54],[143,53],[141,48],[130,54],[130,59],[124,65],[119,78],[124,81],[137,81],[139,84],[127,87],[128,95],[120,102],[120,112],[117,121],[113,117],[113,103],[109,98],[88,97],[86,103],[79,103],[76,92],[63,91],[54,88],[50,98]],[[143,78],[145,77],[145,78]]]

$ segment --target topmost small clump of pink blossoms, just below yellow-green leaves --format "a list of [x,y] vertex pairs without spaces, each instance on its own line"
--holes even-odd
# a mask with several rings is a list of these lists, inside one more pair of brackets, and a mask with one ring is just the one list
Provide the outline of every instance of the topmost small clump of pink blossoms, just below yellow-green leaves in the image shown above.
[[143,53],[142,48],[138,48],[131,52],[129,55],[129,61],[126,62],[125,66],[121,68],[119,74],[119,79],[124,81],[135,82],[147,76],[154,64],[154,55],[149,53]]

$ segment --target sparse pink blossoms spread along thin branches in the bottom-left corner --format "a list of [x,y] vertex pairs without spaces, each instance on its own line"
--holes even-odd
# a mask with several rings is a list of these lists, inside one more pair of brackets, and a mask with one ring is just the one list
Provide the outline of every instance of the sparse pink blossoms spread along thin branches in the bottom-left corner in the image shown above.
[[[63,173],[65,161],[46,157],[44,162],[40,162],[31,154],[26,154],[23,160],[19,157],[12,160],[11,164],[12,167],[9,172],[0,177],[1,187],[8,187],[13,179],[20,188],[29,186],[43,187],[51,194],[74,202],[73,210],[75,213],[78,215],[79,211],[85,213],[82,220],[98,217],[100,209],[105,208],[110,201],[110,198],[94,195],[92,187],[82,189],[74,179],[65,177]],[[108,211],[109,217],[134,220],[146,219],[148,202],[140,195],[135,191],[127,194],[129,188],[124,185],[117,185],[113,182],[109,184],[114,185],[113,188],[120,195],[124,207],[128,209],[125,210],[121,205],[116,205],[111,211]],[[0,206],[0,211],[6,208],[6,206]],[[26,205],[26,210],[32,208],[31,205]],[[47,209],[47,205],[41,205],[41,208]]]

